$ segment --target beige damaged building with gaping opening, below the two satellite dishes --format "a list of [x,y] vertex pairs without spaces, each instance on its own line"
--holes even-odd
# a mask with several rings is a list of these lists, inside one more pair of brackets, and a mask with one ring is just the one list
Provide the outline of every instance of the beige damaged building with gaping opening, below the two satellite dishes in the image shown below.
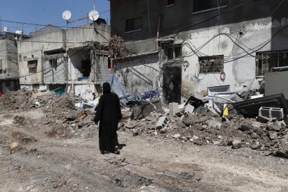
[[[48,28],[48,29],[47,29]],[[53,29],[53,30],[49,30]],[[87,24],[61,29],[47,26],[18,42],[21,88],[74,93],[90,99],[109,81],[107,43],[110,26]]]

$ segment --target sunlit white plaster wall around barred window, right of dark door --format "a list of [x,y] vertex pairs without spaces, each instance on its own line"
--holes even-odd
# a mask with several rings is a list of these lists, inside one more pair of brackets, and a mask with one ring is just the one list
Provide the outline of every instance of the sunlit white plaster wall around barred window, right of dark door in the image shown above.
[[[284,21],[284,22],[283,22]],[[256,79],[256,52],[271,51],[271,43],[277,38],[278,46],[273,50],[288,49],[288,36],[284,33],[273,33],[286,27],[287,19],[271,21],[271,18],[257,19],[255,21],[230,24],[229,26],[210,27],[198,31],[187,31],[178,35],[178,38],[188,37],[189,43],[195,47],[202,47],[198,55],[224,55],[225,81],[221,81],[220,73],[199,74],[198,56],[186,57],[189,67],[182,71],[182,95],[189,97],[195,95],[202,97],[207,93],[209,86],[230,85],[232,91],[259,88]],[[239,31],[243,35],[239,35]],[[221,34],[214,38],[214,35]],[[273,41],[271,40],[273,37]],[[236,42],[236,44],[234,42]],[[184,47],[183,54],[191,53],[191,49]],[[246,87],[246,88],[245,88]]]

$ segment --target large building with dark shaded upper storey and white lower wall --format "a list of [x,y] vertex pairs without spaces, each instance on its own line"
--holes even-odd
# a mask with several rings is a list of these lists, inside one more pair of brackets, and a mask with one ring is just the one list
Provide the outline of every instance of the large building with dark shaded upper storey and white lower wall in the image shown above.
[[[113,58],[130,93],[162,90],[166,103],[207,88],[259,89],[272,67],[286,66],[287,1],[110,0],[111,35],[127,55]],[[181,10],[181,11],[180,11]]]

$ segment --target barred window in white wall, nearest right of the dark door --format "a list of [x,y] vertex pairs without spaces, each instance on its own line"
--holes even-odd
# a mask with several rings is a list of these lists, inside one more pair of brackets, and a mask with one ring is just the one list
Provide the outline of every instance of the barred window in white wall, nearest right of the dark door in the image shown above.
[[223,72],[223,60],[224,56],[200,56],[199,73],[214,73],[214,72]]

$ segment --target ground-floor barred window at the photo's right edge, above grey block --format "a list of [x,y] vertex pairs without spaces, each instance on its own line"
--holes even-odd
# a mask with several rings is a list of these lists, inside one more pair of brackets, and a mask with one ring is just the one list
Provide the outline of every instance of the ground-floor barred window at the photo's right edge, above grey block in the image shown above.
[[262,76],[272,67],[285,67],[288,65],[288,50],[265,51],[256,53],[256,75]]

